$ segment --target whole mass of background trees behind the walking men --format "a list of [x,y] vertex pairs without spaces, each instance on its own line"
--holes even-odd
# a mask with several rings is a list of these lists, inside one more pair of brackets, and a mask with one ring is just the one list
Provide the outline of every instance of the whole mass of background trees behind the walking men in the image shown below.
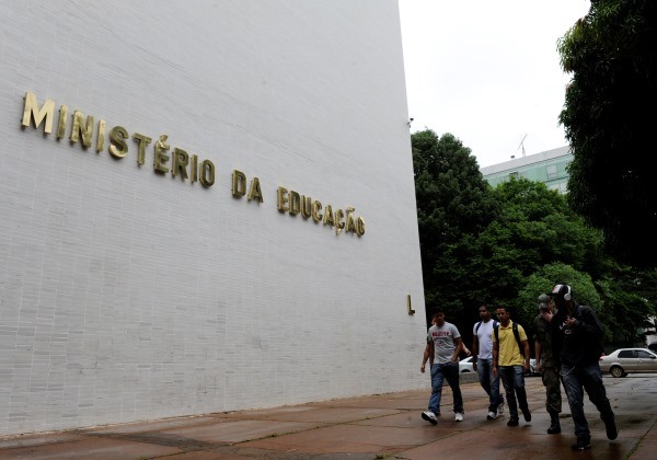
[[611,257],[602,232],[543,183],[511,179],[492,188],[452,135],[426,129],[412,146],[427,315],[442,307],[470,344],[479,306],[506,306],[531,336],[538,296],[568,283],[598,312],[609,344],[642,338],[657,269]]

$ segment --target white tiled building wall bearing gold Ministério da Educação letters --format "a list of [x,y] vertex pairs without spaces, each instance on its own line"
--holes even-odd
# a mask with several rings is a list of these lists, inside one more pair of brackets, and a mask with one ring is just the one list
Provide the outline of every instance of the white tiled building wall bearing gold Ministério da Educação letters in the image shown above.
[[[391,0],[0,0],[0,434],[428,389],[403,70]],[[74,110],[146,164],[71,143]],[[216,183],[157,174],[161,135]]]

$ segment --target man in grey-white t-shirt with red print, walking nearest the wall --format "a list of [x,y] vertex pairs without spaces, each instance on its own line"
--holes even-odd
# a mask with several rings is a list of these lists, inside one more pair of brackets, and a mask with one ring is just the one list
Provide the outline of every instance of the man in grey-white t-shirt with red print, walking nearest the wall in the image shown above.
[[[456,325],[445,321],[442,309],[436,309],[433,325],[427,332],[427,347],[431,363],[431,396],[428,411],[422,417],[433,425],[438,423],[440,415],[440,399],[442,396],[442,382],[447,380],[452,390],[454,421],[463,421],[463,396],[459,387],[459,353],[463,349],[463,341]],[[424,368],[424,357],[423,357]]]

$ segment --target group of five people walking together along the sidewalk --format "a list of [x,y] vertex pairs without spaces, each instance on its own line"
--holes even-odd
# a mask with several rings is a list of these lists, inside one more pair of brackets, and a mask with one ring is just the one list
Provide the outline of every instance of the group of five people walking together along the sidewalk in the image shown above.
[[[591,447],[590,430],[584,414],[584,392],[600,412],[607,437],[615,439],[618,428],[607,398],[598,364],[602,348],[602,326],[596,313],[573,299],[566,284],[557,284],[549,294],[539,296],[539,313],[534,319],[534,352],[537,370],[545,387],[545,409],[550,414],[551,435],[561,433],[558,414],[562,412],[563,384],[573,415],[576,442],[573,450]],[[479,380],[488,394],[487,419],[504,413],[506,393],[509,411],[508,426],[518,426],[519,414],[531,422],[527,403],[525,375],[530,371],[530,347],[525,329],[511,321],[506,307],[497,307],[497,321],[491,307],[481,306],[481,321],[473,326],[472,361]],[[463,421],[463,396],[459,387],[459,355],[470,352],[463,344],[456,325],[445,321],[445,312],[437,309],[427,333],[420,371],[430,363],[431,396],[428,410],[422,417],[436,425],[440,416],[442,386],[447,380],[453,394],[453,413],[457,422]]]

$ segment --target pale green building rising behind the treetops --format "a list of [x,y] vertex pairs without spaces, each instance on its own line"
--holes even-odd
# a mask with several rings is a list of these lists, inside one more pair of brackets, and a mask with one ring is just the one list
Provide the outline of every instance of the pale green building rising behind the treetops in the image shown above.
[[493,186],[515,176],[544,182],[548,188],[566,193],[568,185],[566,166],[572,160],[570,147],[566,146],[528,157],[514,158],[482,168],[481,171],[484,179]]

